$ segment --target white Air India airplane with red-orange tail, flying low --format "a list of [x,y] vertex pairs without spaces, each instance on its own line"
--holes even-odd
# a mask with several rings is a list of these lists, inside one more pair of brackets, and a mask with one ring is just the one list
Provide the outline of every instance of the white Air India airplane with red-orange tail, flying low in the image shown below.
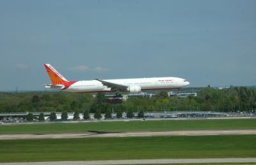
[[140,79],[93,79],[86,81],[68,81],[50,64],[44,67],[51,79],[51,84],[45,84],[45,88],[76,93],[95,92],[129,92],[141,93],[146,90],[173,90],[189,85],[185,79],[178,77],[152,77]]

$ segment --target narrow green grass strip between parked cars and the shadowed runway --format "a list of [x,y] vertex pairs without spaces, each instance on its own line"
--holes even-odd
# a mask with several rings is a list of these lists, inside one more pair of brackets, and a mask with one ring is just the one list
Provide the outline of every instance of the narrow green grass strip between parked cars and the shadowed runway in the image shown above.
[[22,133],[67,133],[128,130],[225,130],[256,129],[256,118],[222,120],[157,120],[130,122],[90,122],[90,123],[47,123],[31,125],[0,125],[0,134]]

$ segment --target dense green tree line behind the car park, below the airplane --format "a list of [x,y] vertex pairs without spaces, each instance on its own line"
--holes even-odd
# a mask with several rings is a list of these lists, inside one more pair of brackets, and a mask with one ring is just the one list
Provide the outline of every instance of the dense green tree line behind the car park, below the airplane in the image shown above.
[[[197,89],[198,90],[198,89]],[[77,112],[123,113],[145,111],[255,111],[256,89],[231,87],[222,90],[199,88],[196,97],[168,97],[164,91],[156,97],[108,99],[104,93],[79,94],[66,92],[0,93],[0,113]]]

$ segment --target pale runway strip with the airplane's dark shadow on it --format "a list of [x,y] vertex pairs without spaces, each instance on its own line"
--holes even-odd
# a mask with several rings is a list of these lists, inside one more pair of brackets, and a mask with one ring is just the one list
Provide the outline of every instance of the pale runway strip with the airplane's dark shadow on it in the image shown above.
[[84,132],[74,134],[0,134],[6,139],[68,139],[68,138],[115,138],[142,136],[212,136],[212,135],[256,135],[252,130],[177,130],[166,132]]

